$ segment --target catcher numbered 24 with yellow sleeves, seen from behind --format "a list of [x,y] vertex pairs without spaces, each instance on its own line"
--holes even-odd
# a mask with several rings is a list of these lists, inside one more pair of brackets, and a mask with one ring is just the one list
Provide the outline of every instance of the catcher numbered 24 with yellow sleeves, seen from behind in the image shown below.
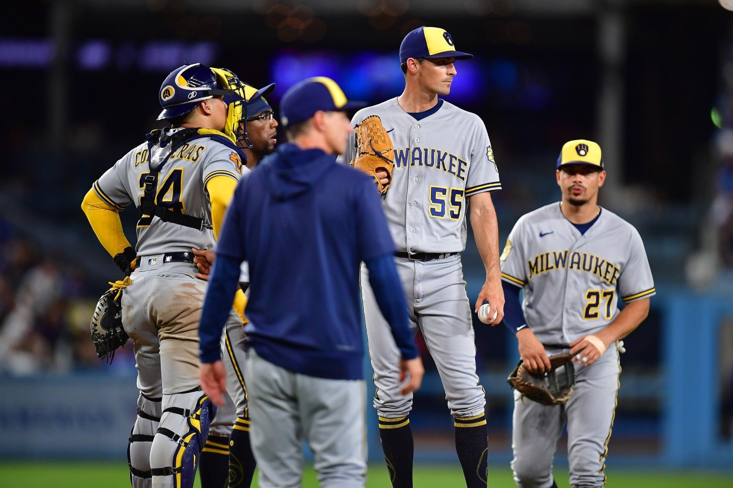
[[[133,487],[191,487],[213,408],[199,386],[198,334],[206,282],[191,248],[212,247],[244,154],[224,135],[240,86],[228,71],[186,64],[158,92],[172,128],[153,131],[100,177],[82,209],[131,283],[122,322],[134,341],[138,416],[128,462]],[[139,207],[133,251],[119,211]],[[230,316],[235,312],[230,310]],[[230,317],[231,318],[231,317]]]

